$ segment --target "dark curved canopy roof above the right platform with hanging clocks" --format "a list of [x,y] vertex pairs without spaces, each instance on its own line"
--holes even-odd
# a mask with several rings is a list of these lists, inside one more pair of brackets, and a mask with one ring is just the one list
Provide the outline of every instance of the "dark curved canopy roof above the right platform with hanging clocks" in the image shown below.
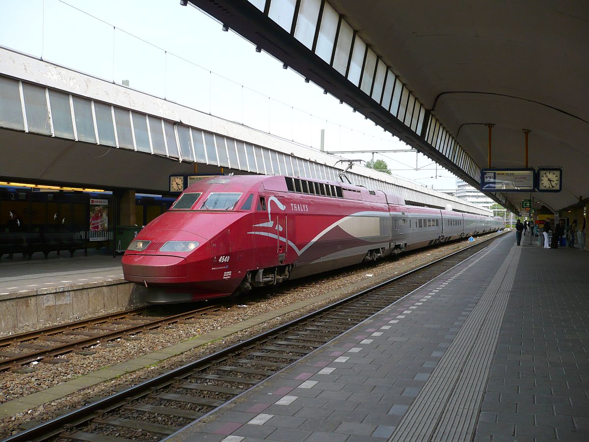
[[[376,118],[379,103],[359,105],[361,97],[342,87],[342,75],[329,65],[324,69],[325,61],[317,60],[312,48],[305,48],[308,53],[301,60],[297,25],[290,35],[283,31],[285,38],[269,18],[276,1],[227,0],[221,8],[216,2],[190,0],[439,160],[439,154],[423,146],[423,137]],[[313,1],[290,3],[300,18]],[[244,13],[244,4],[260,4],[262,14]],[[478,167],[487,168],[489,160],[485,124],[494,124],[491,167],[498,168],[525,167],[523,130],[530,130],[528,167],[562,168],[562,191],[535,192],[534,199],[551,210],[589,199],[589,2],[327,0],[327,5],[395,72]],[[455,165],[440,162],[465,177]],[[530,193],[492,196],[514,208]]]

